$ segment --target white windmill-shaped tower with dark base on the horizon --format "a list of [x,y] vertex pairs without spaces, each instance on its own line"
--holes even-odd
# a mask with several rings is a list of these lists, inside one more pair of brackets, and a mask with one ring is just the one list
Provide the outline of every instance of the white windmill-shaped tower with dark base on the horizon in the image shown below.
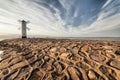
[[21,23],[21,33],[22,38],[27,38],[27,29],[30,30],[26,25],[29,23],[29,21],[25,20],[18,20]]

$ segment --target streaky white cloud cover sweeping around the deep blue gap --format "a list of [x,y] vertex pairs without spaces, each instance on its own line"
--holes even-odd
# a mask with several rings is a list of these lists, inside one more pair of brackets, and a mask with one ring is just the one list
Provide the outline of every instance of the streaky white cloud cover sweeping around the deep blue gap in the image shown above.
[[[114,12],[114,8],[107,12],[104,11],[112,0],[108,0],[103,5],[98,19],[90,26],[80,25],[79,27],[74,27],[69,25],[67,29],[64,27],[66,22],[61,19],[60,15],[62,13],[58,8],[52,5],[49,6],[55,10],[56,13],[53,14],[48,8],[39,5],[35,1],[39,1],[41,4],[45,3],[43,0],[0,0],[0,34],[20,34],[20,31],[17,30],[20,27],[19,19],[29,20],[30,24],[28,24],[28,27],[31,28],[31,31],[28,34],[36,35],[81,36],[120,27],[118,26],[120,24],[120,13],[104,18]],[[75,5],[74,0],[59,1],[66,10],[65,15],[68,15],[70,8]],[[75,10],[73,17],[77,17],[78,10],[79,8]]]

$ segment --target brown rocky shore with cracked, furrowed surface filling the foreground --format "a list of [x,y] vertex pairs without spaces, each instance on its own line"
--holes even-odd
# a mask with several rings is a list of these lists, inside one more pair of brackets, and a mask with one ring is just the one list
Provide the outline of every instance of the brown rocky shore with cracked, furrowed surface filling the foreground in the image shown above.
[[120,80],[120,41],[0,41],[0,80]]

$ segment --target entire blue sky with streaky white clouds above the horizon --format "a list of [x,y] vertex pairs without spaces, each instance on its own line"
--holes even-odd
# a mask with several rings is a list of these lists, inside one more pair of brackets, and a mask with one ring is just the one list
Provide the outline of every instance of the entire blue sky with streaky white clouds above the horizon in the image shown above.
[[120,0],[0,0],[0,35],[120,37]]

